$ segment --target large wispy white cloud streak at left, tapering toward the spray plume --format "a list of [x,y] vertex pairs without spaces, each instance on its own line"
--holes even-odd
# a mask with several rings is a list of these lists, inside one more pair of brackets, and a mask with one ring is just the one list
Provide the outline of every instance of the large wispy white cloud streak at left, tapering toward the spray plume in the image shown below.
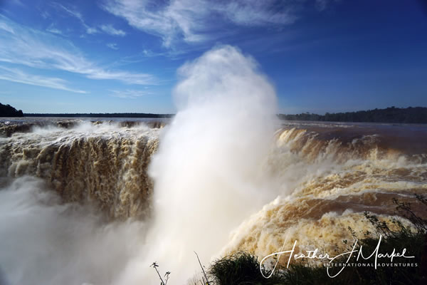
[[89,61],[72,43],[51,33],[20,26],[0,15],[0,61],[32,68],[78,73],[92,79],[117,80],[129,84],[155,85],[147,73],[112,71]]

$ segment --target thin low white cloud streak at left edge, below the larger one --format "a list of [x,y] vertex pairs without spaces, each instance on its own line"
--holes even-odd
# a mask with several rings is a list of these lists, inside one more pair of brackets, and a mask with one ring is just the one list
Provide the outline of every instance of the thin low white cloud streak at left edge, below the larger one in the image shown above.
[[61,78],[35,76],[29,73],[25,73],[17,68],[6,68],[4,66],[0,66],[0,80],[29,84],[33,86],[43,86],[75,93],[87,93],[83,90],[76,90],[67,87],[67,81]]

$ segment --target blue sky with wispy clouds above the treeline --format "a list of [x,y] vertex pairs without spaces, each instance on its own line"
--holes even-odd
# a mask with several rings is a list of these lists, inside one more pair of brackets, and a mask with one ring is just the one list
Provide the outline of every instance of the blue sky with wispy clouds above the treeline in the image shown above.
[[0,0],[0,102],[24,113],[174,113],[176,69],[221,44],[281,113],[427,106],[416,0]]

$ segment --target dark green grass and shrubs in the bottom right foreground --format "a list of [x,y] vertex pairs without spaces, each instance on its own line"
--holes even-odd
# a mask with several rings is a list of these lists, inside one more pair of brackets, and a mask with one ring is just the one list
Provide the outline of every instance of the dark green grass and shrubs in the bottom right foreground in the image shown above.
[[[427,199],[419,195],[416,196],[419,202],[427,206]],[[360,266],[346,266],[339,275],[331,278],[327,274],[325,266],[311,265],[307,260],[297,264],[290,264],[289,268],[276,267],[272,272],[273,266],[262,266],[263,274],[260,271],[258,257],[248,252],[238,252],[228,257],[216,260],[206,272],[206,278],[194,282],[194,284],[211,284],[211,285],[243,285],[243,284],[427,284],[427,220],[418,217],[411,210],[409,203],[401,203],[394,200],[396,210],[403,217],[412,222],[413,227],[404,226],[399,220],[393,220],[394,230],[391,224],[381,222],[375,215],[365,212],[364,216],[367,222],[374,225],[375,232],[365,232],[364,237],[359,238],[357,246],[354,248],[357,252],[334,260],[334,263],[344,264],[361,264]],[[356,233],[349,228],[355,239]],[[401,254],[406,249],[404,257],[394,257],[390,261],[389,257],[379,258],[377,266],[367,266],[375,264],[375,259],[359,258],[357,253],[362,249],[364,257],[369,257],[378,247],[381,237],[379,254],[395,252]],[[345,243],[346,241],[344,241]],[[353,244],[347,243],[347,250],[352,251]],[[288,259],[288,257],[285,257]],[[327,261],[326,261],[327,262]],[[385,266],[381,264],[386,264]],[[390,264],[406,264],[406,266],[390,266]],[[411,266],[407,266],[411,264]],[[364,266],[366,265],[366,266]],[[330,275],[336,274],[341,267],[330,268]],[[271,277],[266,279],[264,276]],[[263,276],[264,275],[264,276]],[[207,280],[206,280],[207,279]]]

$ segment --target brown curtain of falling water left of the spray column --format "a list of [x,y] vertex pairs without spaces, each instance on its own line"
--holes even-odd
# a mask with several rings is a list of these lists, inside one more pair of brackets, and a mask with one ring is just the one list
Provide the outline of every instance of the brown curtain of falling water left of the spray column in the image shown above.
[[63,202],[93,202],[115,218],[147,214],[152,193],[147,167],[159,128],[75,121],[2,128],[26,131],[0,138],[3,185],[14,177],[41,177]]

